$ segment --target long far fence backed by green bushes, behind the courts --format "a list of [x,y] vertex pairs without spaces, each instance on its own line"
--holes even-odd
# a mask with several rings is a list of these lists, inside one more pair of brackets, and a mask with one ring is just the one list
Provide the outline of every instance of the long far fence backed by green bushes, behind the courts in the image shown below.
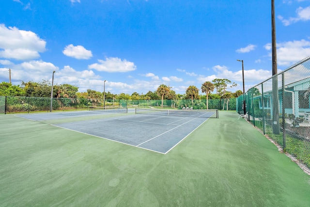
[[[0,114],[31,113],[67,110],[88,110],[89,106],[116,108],[169,108],[169,109],[206,109],[206,100],[115,100],[0,96]],[[161,106],[163,105],[163,106]],[[236,98],[209,99],[209,109],[236,110]]]

